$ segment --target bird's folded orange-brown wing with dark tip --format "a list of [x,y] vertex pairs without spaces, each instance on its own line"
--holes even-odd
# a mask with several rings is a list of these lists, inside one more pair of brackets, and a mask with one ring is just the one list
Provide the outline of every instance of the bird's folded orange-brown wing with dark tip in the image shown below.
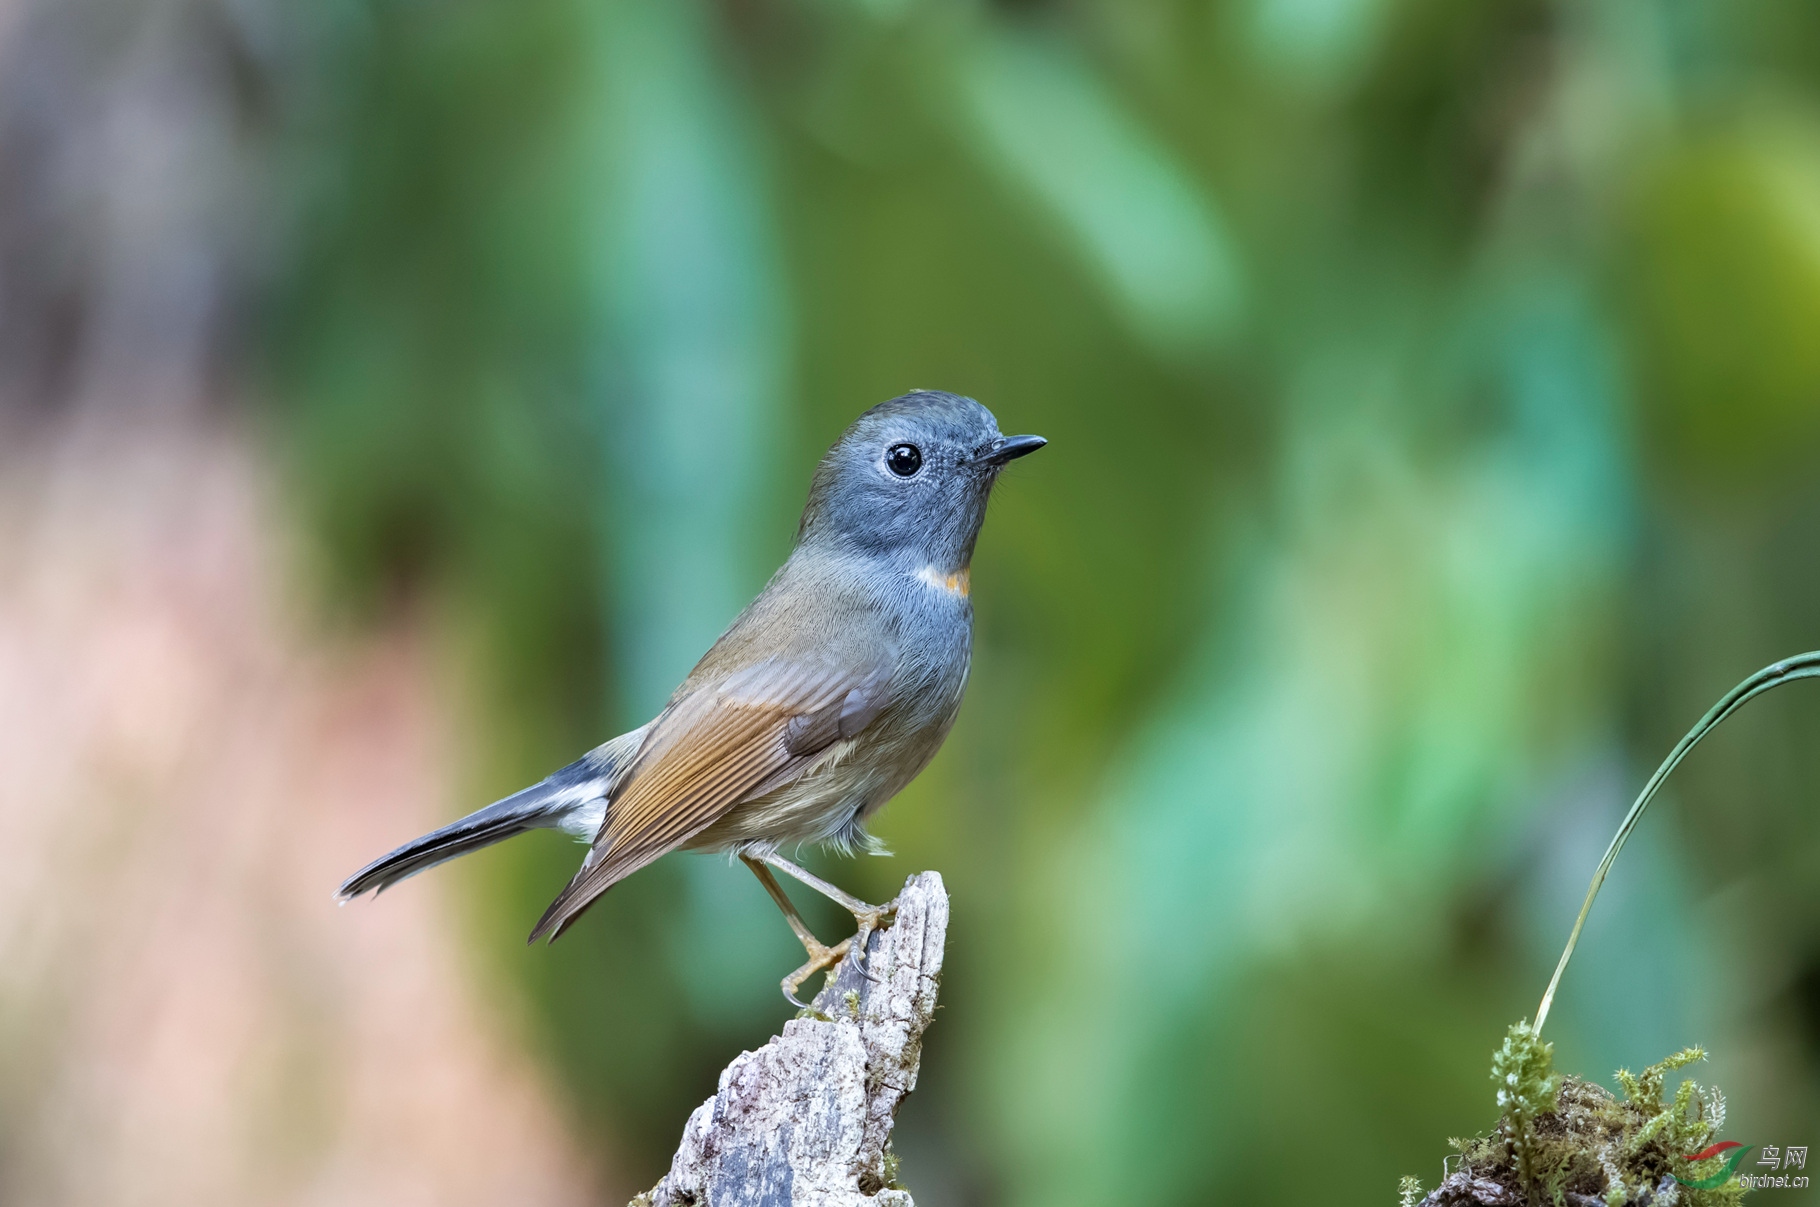
[[835,670],[772,659],[675,701],[652,725],[593,850],[530,941],[555,939],[615,883],[739,801],[794,779],[817,754],[863,730],[888,690],[888,663]]

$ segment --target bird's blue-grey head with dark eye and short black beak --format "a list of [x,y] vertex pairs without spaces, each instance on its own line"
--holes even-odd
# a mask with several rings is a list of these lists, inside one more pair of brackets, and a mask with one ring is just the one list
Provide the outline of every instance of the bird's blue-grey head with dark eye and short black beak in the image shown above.
[[999,470],[1045,442],[1006,437],[979,402],[939,390],[879,402],[815,466],[797,544],[961,570]]

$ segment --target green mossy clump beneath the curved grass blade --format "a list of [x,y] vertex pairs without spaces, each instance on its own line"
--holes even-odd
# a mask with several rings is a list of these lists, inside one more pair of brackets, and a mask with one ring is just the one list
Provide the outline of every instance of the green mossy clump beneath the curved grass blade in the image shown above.
[[[1492,1056],[1498,1127],[1454,1141],[1467,1180],[1518,1191],[1520,1202],[1538,1207],[1565,1205],[1569,1194],[1623,1207],[1645,1202],[1663,1180],[1698,1182],[1722,1169],[1724,1158],[1689,1161],[1685,1154],[1713,1143],[1725,1121],[1725,1098],[1689,1078],[1671,1101],[1662,1101],[1669,1074],[1705,1060],[1702,1049],[1676,1052],[1636,1076],[1620,1069],[1622,1100],[1592,1081],[1556,1074],[1552,1056],[1552,1045],[1542,1043],[1529,1023],[1511,1027]],[[1410,1182],[1405,1178],[1401,1187],[1405,1205]],[[1423,1202],[1469,1202],[1449,1192],[1451,1182]],[[1736,1178],[1716,1189],[1682,1183],[1678,1191],[1682,1207],[1734,1207],[1744,1200]]]

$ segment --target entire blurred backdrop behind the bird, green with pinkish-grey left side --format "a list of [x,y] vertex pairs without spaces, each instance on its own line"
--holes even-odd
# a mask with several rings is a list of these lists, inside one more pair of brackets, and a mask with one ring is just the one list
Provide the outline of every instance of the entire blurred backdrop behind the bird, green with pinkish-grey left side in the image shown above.
[[[954,894],[917,1202],[1432,1185],[1820,646],[1820,7],[5,0],[0,1202],[655,1182],[786,1018],[743,868],[329,892],[648,717],[921,386],[1052,444],[819,865]],[[1680,772],[1565,1069],[1820,1138],[1816,777],[1813,688]]]

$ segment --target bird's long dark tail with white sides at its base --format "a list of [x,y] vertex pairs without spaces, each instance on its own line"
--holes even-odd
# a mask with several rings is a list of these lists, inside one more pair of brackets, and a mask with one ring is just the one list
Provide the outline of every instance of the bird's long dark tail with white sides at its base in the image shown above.
[[[626,737],[633,737],[633,734]],[[599,825],[599,817],[604,814],[604,797],[624,765],[624,752],[615,750],[622,743],[624,739],[615,739],[584,754],[542,783],[373,859],[349,876],[335,896],[349,901],[368,890],[382,892],[408,876],[417,876],[455,856],[491,847],[526,830],[561,827],[592,837],[584,832],[590,828],[586,823]]]

